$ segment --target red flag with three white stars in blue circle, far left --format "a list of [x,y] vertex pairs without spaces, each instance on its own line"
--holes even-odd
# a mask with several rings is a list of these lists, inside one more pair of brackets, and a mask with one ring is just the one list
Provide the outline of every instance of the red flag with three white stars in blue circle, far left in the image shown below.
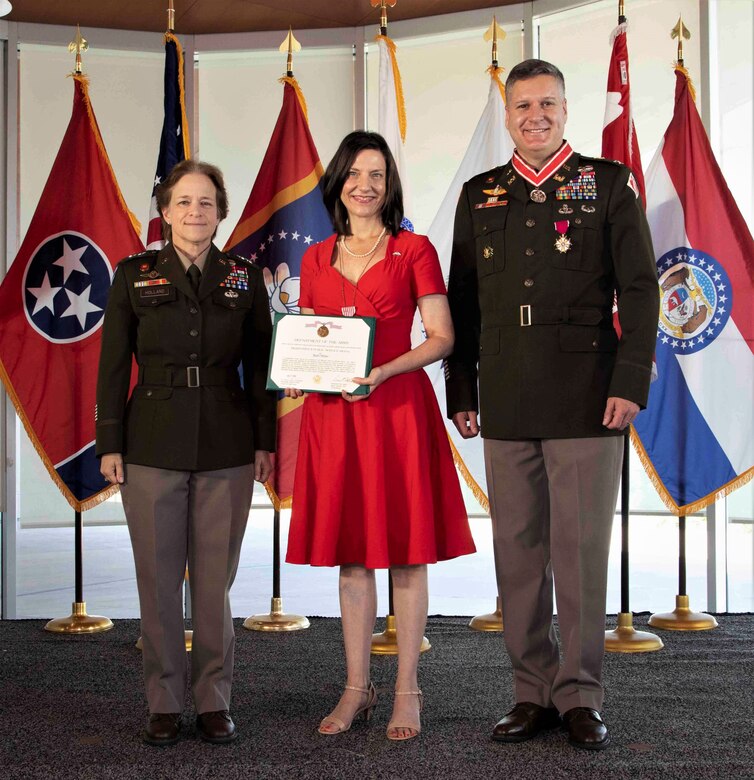
[[74,76],[68,129],[0,286],[0,376],[50,476],[76,511],[114,490],[94,457],[100,327],[115,264],[142,249],[86,78]]

